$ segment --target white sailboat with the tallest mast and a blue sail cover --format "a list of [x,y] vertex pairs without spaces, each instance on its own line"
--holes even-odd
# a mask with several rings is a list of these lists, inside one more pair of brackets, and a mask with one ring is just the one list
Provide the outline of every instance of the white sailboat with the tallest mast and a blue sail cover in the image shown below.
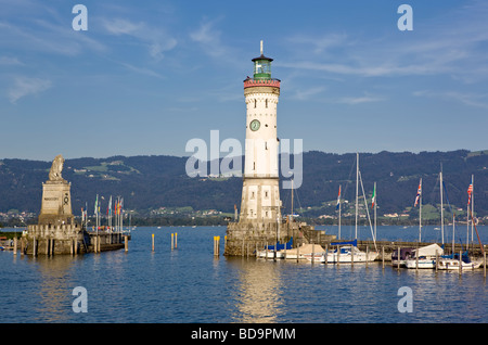
[[[375,252],[362,252],[358,248],[358,205],[359,205],[359,182],[361,182],[362,196],[364,197],[364,205],[368,214],[368,219],[370,221],[371,234],[373,237],[373,243],[375,246]],[[341,199],[337,200],[341,206]],[[341,208],[339,208],[341,209]],[[341,213],[339,213],[341,222]],[[364,187],[362,184],[361,173],[359,171],[359,153],[356,154],[356,226],[355,226],[355,240],[349,242],[332,242],[332,246],[336,245],[335,251],[323,253],[320,258],[321,263],[334,264],[334,263],[367,263],[374,261],[380,253],[376,248],[376,238],[371,226],[370,212],[368,210],[368,202],[365,200]]]

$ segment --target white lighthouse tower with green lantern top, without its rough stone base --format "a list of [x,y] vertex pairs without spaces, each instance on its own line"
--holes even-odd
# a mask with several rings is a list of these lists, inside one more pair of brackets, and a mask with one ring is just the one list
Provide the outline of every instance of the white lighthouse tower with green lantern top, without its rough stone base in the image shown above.
[[246,142],[240,222],[277,222],[280,216],[277,105],[280,80],[271,78],[271,62],[253,59],[254,75],[244,80]]

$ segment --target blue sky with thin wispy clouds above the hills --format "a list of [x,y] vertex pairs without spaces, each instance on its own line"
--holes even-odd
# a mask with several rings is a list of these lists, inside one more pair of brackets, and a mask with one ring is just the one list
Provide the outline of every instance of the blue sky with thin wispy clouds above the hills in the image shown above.
[[486,1],[0,0],[0,158],[182,156],[213,129],[244,140],[261,39],[279,137],[304,151],[485,150],[487,18]]

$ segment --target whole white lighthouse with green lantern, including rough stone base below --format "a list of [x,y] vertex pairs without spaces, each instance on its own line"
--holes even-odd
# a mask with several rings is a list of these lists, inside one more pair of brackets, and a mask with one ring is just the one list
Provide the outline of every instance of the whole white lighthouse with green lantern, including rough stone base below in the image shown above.
[[[253,59],[253,77],[244,80],[245,159],[239,219],[229,222],[224,255],[249,255],[266,244],[285,243],[292,237],[281,217],[277,106],[280,79],[271,76],[273,59]],[[244,122],[243,122],[244,123]]]

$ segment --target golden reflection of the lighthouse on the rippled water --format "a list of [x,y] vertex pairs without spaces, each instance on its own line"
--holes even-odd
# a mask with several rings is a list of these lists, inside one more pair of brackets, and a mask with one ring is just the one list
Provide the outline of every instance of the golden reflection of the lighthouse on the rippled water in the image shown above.
[[278,322],[283,314],[281,263],[230,258],[236,274],[233,291],[237,312],[235,322]]

